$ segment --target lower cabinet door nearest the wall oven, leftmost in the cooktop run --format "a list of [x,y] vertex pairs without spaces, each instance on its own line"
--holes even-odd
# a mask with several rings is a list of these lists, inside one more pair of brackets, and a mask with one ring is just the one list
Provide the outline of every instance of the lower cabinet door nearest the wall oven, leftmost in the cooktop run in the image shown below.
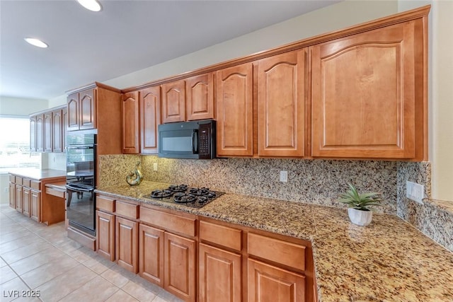
[[115,216],[96,211],[96,250],[110,261],[115,260]]

